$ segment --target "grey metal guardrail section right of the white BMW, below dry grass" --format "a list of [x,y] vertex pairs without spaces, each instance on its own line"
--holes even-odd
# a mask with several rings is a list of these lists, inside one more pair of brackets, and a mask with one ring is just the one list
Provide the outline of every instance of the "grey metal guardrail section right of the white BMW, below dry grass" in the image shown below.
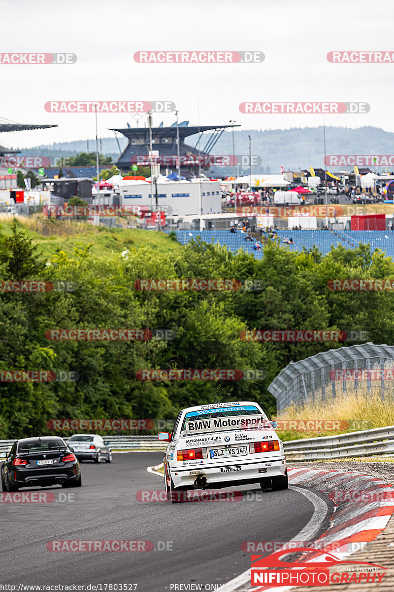
[[319,461],[394,453],[394,426],[284,442],[288,461]]

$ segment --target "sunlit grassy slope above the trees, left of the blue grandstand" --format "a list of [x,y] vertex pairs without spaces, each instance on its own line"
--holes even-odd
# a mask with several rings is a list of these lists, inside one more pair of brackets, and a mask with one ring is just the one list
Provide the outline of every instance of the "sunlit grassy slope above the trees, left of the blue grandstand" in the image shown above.
[[[7,236],[11,234],[11,222],[11,217],[0,217],[0,230]],[[84,250],[88,245],[92,245],[90,253],[97,256],[121,253],[126,249],[139,249],[144,246],[151,246],[165,255],[177,253],[182,249],[182,245],[169,239],[167,234],[154,230],[108,229],[104,226],[96,227],[69,220],[61,222],[45,220],[45,226],[43,226],[42,217],[19,217],[18,223],[37,245],[38,250],[48,258],[58,250],[73,256],[74,247]]]

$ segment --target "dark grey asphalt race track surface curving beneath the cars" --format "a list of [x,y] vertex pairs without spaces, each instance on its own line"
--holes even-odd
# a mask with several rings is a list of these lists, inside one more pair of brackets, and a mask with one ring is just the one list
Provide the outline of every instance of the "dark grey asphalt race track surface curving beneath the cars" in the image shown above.
[[[250,567],[242,542],[291,540],[313,514],[299,491],[258,485],[234,488],[260,494],[249,501],[138,501],[138,491],[164,490],[163,479],[146,471],[161,461],[160,452],[117,453],[112,464],[83,462],[81,488],[50,489],[73,493],[73,503],[0,503],[0,584],[84,584],[84,590],[103,584],[103,592],[105,584],[138,584],[137,592],[215,584],[220,590],[218,584]],[[53,552],[50,540],[151,540],[168,550]]]

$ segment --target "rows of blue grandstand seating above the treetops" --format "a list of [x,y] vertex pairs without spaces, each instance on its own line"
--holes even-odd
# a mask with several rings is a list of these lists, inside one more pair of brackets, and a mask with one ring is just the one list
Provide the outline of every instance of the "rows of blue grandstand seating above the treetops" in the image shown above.
[[[192,237],[201,236],[207,243],[225,244],[232,252],[243,249],[253,253],[256,259],[261,259],[262,251],[253,249],[253,242],[245,241],[245,234],[232,234],[230,230],[177,230],[177,240],[181,244],[188,243]],[[370,244],[371,251],[381,249],[386,255],[394,258],[394,232],[381,230],[278,230],[281,246],[291,251],[301,251],[302,247],[311,249],[316,246],[327,255],[331,246],[341,244],[345,249],[356,249],[359,243]],[[294,244],[282,243],[284,237],[292,237]]]

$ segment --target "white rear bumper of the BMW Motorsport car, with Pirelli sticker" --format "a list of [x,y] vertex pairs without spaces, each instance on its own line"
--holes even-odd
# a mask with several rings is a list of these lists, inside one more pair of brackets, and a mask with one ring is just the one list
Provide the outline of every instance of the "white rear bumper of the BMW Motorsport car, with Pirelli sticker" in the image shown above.
[[[235,468],[229,471],[229,468]],[[231,487],[233,484],[253,483],[265,478],[284,475],[284,456],[266,458],[262,461],[236,461],[231,464],[170,466],[172,481],[176,487],[193,487],[197,477],[206,477],[209,487]]]

